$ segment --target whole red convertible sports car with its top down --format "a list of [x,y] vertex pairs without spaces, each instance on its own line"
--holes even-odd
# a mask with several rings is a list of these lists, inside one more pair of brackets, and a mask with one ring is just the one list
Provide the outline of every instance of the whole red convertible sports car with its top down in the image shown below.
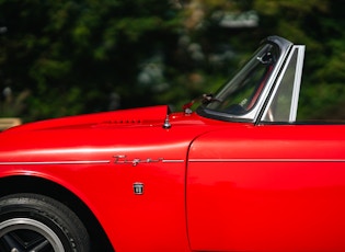
[[304,46],[266,38],[199,107],[0,134],[0,251],[345,251],[345,126],[296,122]]

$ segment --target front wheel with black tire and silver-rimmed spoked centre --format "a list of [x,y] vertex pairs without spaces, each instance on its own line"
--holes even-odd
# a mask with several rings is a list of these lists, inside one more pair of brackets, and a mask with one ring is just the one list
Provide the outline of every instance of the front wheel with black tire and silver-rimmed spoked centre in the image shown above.
[[0,251],[89,252],[87,229],[68,207],[47,196],[0,198]]

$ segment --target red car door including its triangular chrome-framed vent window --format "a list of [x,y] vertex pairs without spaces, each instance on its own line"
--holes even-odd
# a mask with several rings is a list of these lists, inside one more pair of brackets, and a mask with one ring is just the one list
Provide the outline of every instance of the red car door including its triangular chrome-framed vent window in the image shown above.
[[345,126],[295,123],[303,47],[290,51],[257,119],[191,145],[193,251],[345,251]]

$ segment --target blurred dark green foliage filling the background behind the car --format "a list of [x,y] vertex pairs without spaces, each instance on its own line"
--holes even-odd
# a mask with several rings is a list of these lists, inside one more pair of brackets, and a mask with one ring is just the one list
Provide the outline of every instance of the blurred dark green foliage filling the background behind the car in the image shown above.
[[[212,92],[267,35],[307,45],[300,118],[345,114],[331,0],[0,0],[0,117],[25,122]],[[254,26],[221,25],[252,13]],[[254,20],[255,21],[255,20]],[[5,27],[5,28],[4,28]]]

